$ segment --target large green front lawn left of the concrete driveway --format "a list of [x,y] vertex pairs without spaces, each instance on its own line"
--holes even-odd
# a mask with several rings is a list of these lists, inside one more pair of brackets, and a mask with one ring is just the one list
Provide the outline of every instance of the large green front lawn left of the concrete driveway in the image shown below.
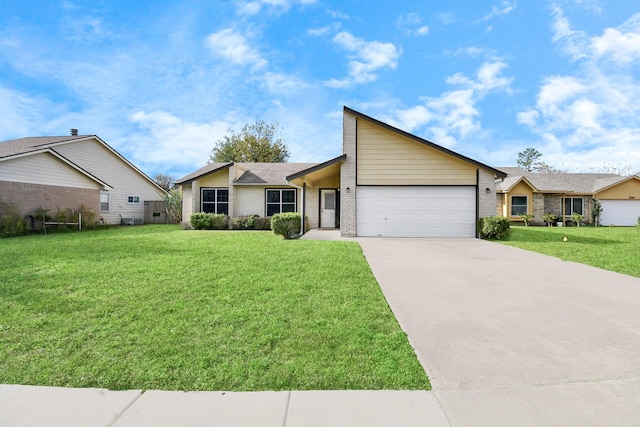
[[0,383],[430,389],[356,243],[174,226],[0,239]]

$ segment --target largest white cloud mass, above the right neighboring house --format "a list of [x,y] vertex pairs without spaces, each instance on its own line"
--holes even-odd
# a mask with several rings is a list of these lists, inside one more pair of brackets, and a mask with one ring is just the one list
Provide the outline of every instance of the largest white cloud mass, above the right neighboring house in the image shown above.
[[546,77],[535,106],[518,113],[518,122],[546,141],[550,164],[585,170],[631,162],[640,169],[640,79],[633,68],[640,64],[640,14],[589,36],[554,6],[552,28],[576,71]]

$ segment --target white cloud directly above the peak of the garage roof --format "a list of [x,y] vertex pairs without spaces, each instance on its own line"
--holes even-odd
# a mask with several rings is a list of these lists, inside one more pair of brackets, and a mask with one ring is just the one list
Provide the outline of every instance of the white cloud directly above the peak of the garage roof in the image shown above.
[[348,58],[351,60],[348,77],[326,82],[332,88],[372,82],[378,78],[377,71],[395,69],[400,57],[400,52],[392,43],[368,42],[344,31],[335,35],[333,43],[350,52]]

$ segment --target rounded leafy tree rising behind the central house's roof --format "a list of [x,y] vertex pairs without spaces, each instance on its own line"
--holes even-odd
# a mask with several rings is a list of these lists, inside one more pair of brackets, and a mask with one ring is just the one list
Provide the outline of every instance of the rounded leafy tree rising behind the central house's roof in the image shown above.
[[289,159],[286,142],[279,137],[278,122],[259,120],[246,124],[239,133],[229,129],[211,150],[211,162],[284,163]]

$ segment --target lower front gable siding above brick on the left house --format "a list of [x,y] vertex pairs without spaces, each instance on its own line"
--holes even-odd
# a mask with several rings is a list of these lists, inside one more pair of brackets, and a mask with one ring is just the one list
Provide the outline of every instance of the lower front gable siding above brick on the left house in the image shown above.
[[29,184],[97,189],[100,185],[50,153],[0,162],[0,180]]

